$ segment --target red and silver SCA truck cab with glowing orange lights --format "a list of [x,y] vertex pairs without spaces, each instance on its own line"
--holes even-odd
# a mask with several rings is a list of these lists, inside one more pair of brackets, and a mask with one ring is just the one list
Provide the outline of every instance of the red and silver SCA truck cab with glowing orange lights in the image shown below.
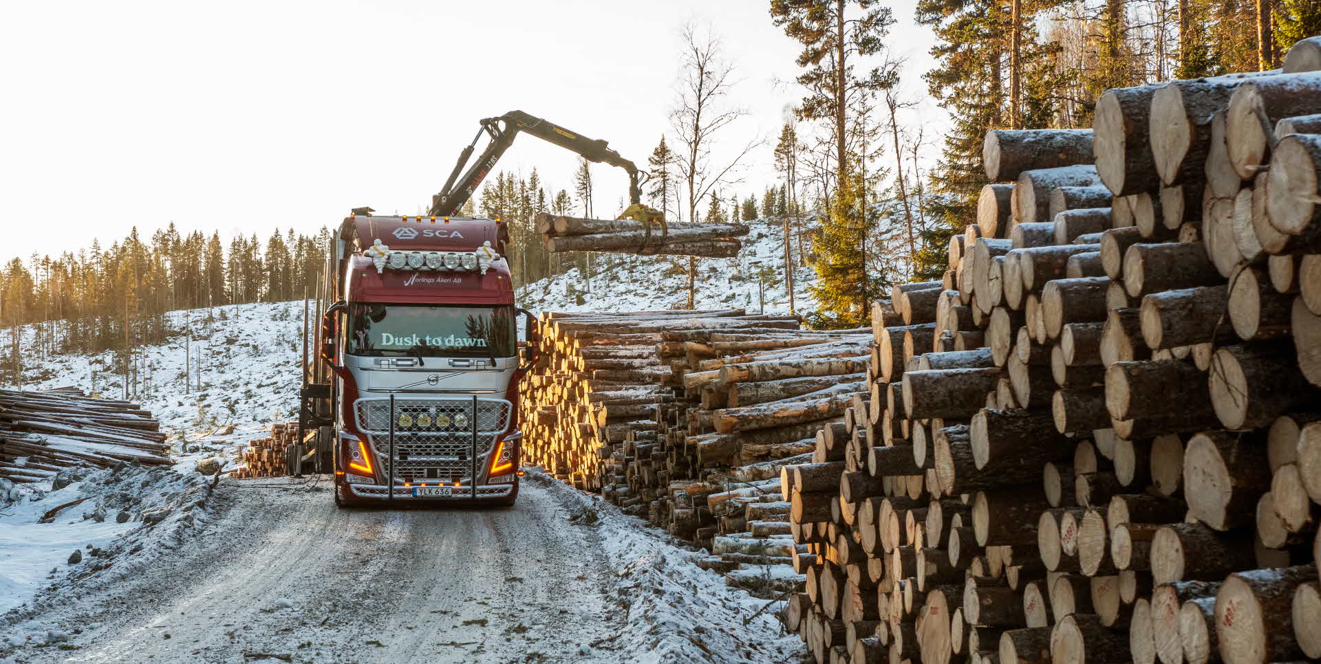
[[506,242],[458,216],[354,215],[333,235],[300,425],[337,504],[513,504],[535,319],[514,306]]

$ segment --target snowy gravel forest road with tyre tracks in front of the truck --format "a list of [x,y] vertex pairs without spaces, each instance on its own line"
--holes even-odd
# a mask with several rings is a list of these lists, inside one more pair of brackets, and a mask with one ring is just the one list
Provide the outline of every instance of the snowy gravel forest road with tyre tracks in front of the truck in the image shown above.
[[505,510],[337,510],[326,482],[287,479],[219,491],[207,536],[70,606],[83,631],[21,661],[584,661],[622,620],[598,535],[535,482]]

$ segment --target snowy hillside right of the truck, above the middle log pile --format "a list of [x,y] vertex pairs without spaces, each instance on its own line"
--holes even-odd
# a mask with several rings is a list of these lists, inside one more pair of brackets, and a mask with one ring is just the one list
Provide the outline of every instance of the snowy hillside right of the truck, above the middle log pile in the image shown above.
[[[697,309],[746,309],[789,313],[785,289],[783,224],[778,219],[748,222],[752,232],[734,259],[701,259],[694,305]],[[799,256],[794,247],[794,257]],[[638,310],[683,308],[688,301],[688,259],[597,253],[590,285],[577,269],[518,289],[518,304],[531,312]],[[811,267],[794,268],[798,313],[816,309],[808,284]]]

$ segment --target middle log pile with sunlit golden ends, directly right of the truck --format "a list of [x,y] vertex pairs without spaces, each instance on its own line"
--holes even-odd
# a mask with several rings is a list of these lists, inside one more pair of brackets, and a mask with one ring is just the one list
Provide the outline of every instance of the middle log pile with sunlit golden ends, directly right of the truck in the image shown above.
[[[547,313],[524,454],[774,597],[801,583],[779,471],[865,393],[871,334],[724,312]],[[830,440],[843,445],[843,440]]]

